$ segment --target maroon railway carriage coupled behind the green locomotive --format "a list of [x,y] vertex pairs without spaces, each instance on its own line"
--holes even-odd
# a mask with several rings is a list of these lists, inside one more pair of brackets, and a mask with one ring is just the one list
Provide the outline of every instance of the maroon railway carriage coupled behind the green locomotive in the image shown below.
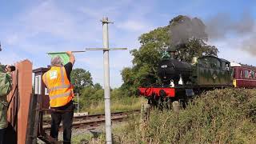
[[231,62],[234,69],[234,87],[256,87],[256,67]]

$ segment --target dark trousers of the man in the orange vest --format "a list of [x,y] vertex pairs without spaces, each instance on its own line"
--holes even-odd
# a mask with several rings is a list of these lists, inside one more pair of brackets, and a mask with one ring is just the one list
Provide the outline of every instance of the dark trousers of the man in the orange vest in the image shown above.
[[[69,102],[65,106],[54,107],[51,113],[51,129],[50,136],[58,140],[58,127],[62,122],[63,127],[63,143],[70,143],[72,133],[72,122],[74,116],[73,102]],[[66,110],[66,111],[56,111]]]

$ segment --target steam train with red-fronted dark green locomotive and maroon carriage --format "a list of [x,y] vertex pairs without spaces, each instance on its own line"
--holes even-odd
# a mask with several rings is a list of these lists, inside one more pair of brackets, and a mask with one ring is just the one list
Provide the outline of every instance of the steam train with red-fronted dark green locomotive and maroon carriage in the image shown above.
[[204,90],[225,87],[256,87],[256,67],[229,62],[214,56],[194,57],[192,62],[181,62],[174,58],[162,58],[158,64],[158,77],[162,85],[139,87],[140,95],[148,99],[151,106],[170,105],[172,102],[187,102]]

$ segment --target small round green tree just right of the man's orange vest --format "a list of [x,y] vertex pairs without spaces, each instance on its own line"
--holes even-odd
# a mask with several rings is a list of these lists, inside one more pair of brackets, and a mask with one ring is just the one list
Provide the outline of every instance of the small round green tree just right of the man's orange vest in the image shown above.
[[82,68],[72,70],[70,78],[71,83],[74,85],[74,93],[81,94],[84,87],[93,86],[90,72]]

